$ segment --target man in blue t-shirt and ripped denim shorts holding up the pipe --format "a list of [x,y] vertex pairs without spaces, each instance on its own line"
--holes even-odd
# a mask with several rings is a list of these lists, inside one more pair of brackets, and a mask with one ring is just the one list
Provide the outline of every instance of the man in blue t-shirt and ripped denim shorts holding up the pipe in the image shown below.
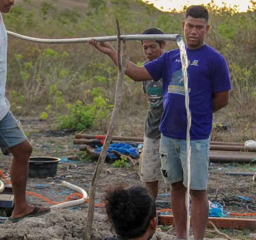
[[[208,161],[212,113],[228,104],[230,76],[224,57],[204,44],[209,31],[208,11],[191,6],[182,22],[188,55],[188,90],[191,110],[191,220],[194,239],[203,239],[208,219]],[[116,51],[110,43],[91,44],[117,64]],[[161,169],[166,183],[171,184],[171,207],[178,239],[186,239],[187,187],[185,88],[180,50],[165,52],[142,67],[127,61],[126,74],[135,81],[162,78],[164,112],[160,123]]]

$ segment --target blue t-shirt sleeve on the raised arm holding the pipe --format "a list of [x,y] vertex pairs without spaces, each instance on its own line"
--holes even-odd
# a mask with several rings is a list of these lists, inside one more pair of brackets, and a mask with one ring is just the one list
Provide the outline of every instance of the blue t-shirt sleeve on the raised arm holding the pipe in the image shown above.
[[162,67],[164,65],[164,59],[165,59],[165,53],[162,54],[159,58],[146,63],[144,67],[150,74],[151,78],[154,81],[158,81],[159,79],[162,78]]

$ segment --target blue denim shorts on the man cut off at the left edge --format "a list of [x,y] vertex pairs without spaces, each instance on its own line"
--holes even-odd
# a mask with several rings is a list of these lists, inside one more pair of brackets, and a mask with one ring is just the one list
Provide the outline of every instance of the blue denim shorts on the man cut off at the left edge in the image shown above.
[[0,146],[7,150],[27,140],[20,121],[17,121],[12,112],[9,111],[0,121]]

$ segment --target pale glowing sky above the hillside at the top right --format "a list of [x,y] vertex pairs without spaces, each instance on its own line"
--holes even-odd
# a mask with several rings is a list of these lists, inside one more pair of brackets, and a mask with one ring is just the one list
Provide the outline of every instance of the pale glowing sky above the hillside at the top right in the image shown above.
[[[210,0],[142,0],[143,2],[153,3],[155,7],[160,9],[163,7],[163,11],[170,11],[176,9],[177,11],[181,10],[184,5],[199,5],[207,4],[211,2]],[[215,4],[218,6],[223,6],[222,2],[226,2],[227,6],[233,7],[234,5],[239,5],[240,12],[246,12],[250,4],[250,0],[214,0]]]

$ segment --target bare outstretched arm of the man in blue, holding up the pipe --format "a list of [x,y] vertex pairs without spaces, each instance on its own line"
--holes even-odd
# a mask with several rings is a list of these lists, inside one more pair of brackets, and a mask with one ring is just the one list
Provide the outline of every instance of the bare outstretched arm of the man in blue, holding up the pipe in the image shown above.
[[[100,52],[107,54],[114,64],[117,65],[117,52],[109,42],[97,42],[92,39],[90,44]],[[126,61],[126,75],[134,81],[145,81],[152,79],[144,66],[137,66],[136,64]]]

